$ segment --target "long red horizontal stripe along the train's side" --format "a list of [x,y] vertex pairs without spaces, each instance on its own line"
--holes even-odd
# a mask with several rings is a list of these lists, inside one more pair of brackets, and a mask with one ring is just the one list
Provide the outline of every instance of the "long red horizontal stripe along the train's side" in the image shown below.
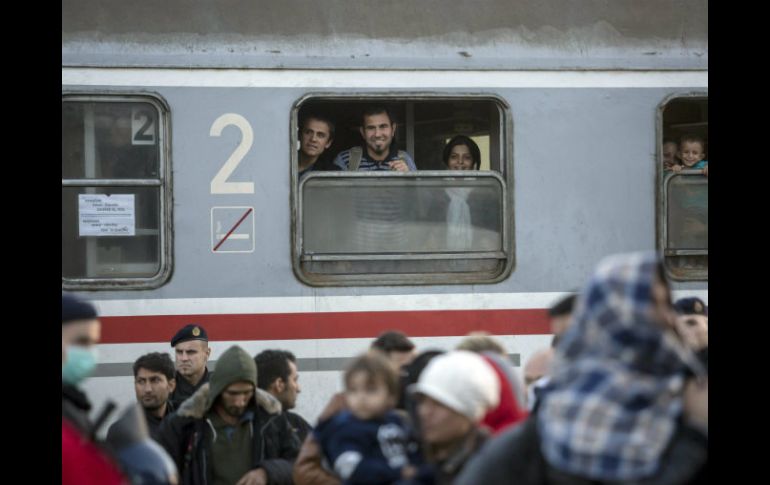
[[297,340],[371,338],[388,329],[412,337],[551,333],[548,311],[437,310],[247,315],[144,315],[102,317],[102,343],[166,342],[181,327],[198,323],[211,340]]

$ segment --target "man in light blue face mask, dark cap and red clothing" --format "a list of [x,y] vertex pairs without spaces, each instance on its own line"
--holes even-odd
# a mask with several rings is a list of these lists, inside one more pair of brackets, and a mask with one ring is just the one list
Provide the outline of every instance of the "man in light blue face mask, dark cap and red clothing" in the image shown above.
[[61,298],[62,484],[127,484],[119,468],[92,441],[91,404],[77,385],[96,368],[101,324],[96,309],[72,295]]

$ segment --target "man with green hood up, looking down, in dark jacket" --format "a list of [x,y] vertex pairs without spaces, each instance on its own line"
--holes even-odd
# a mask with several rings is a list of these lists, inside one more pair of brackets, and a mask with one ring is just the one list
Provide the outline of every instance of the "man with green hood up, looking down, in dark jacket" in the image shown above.
[[256,386],[254,360],[230,347],[211,381],[163,420],[160,443],[183,485],[292,483],[299,448],[280,402]]

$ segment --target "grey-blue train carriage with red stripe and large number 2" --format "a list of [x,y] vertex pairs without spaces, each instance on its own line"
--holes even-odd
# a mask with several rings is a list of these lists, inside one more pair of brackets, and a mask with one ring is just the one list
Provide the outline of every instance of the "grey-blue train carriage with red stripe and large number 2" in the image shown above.
[[[421,349],[487,330],[520,365],[550,343],[547,308],[580,288],[603,256],[663,250],[666,106],[707,106],[707,2],[587,2],[581,11],[568,1],[255,3],[62,4],[62,286],[102,315],[100,365],[85,384],[95,407],[132,402],[131,363],[171,352],[170,337],[190,322],[207,329],[214,361],[233,343],[252,354],[294,352],[298,412],[311,421],[341,388],[346,359],[385,329],[405,331]],[[340,114],[345,141],[353,132],[344,116],[372,102],[399,112],[398,141],[422,173],[298,180],[303,110]],[[110,103],[130,108],[125,130],[132,150],[153,153],[151,175],[98,168],[107,136],[99,123],[109,118],[99,110]],[[142,118],[140,108],[151,114]],[[488,143],[485,170],[466,178],[493,194],[493,247],[477,254],[405,243],[396,255],[325,259],[308,249],[308,214],[327,200],[312,197],[379,182],[412,195],[440,191],[457,174],[418,154],[428,140],[468,129]],[[65,160],[72,150],[75,161]],[[73,164],[85,168],[65,175]],[[121,226],[130,235],[112,236],[125,238],[115,249],[98,234],[104,227],[83,229],[80,212],[122,193],[133,194],[130,204],[116,206],[134,207],[126,209],[133,222]],[[96,226],[105,220],[95,217]],[[152,229],[143,218],[156,221]],[[148,236],[149,273],[139,265],[143,276],[121,277],[120,264],[107,264],[115,276],[89,273],[100,258],[129,251],[124,241]],[[707,245],[705,254],[705,276],[672,275],[677,296],[708,300]],[[80,259],[85,273],[65,271]],[[366,266],[383,259],[396,269]]]

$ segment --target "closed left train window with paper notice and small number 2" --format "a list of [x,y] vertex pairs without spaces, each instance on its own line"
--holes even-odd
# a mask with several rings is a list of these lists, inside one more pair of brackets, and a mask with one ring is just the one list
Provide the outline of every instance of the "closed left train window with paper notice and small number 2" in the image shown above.
[[170,274],[168,108],[62,96],[62,286],[154,288]]

